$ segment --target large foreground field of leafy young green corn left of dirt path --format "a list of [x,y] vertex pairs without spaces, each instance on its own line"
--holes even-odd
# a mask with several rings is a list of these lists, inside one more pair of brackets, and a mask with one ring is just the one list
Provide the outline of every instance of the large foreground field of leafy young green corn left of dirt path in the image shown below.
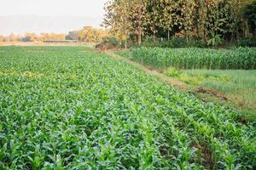
[[92,48],[0,47],[0,84],[0,169],[256,164],[255,121]]

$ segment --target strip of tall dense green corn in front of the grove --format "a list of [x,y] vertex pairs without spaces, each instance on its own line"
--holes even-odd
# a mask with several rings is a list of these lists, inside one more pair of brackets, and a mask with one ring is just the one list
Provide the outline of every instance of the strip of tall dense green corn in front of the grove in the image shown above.
[[255,48],[135,48],[131,59],[155,68],[256,69]]

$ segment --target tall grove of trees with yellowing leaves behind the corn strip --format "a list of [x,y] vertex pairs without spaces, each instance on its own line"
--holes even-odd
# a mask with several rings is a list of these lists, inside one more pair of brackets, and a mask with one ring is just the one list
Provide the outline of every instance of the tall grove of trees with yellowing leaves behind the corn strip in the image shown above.
[[103,26],[126,43],[143,37],[206,42],[256,36],[256,0],[109,0]]

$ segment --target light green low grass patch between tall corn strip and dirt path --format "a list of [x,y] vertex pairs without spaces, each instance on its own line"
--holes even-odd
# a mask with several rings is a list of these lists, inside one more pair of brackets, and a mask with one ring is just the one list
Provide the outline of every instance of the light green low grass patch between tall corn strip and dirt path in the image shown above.
[[244,70],[176,70],[169,68],[166,76],[189,85],[202,86],[224,94],[232,107],[243,111],[247,118],[256,118],[256,71]]

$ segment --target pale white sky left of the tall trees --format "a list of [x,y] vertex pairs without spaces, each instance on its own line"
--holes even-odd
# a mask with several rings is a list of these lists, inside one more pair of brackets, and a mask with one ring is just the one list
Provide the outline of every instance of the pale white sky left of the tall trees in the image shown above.
[[0,0],[0,34],[100,27],[108,0]]

